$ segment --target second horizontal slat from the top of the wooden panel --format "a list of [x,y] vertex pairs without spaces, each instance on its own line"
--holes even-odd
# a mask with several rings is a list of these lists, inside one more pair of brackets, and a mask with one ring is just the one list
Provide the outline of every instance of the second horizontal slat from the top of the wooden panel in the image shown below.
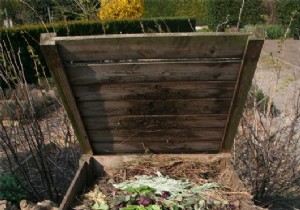
[[241,66],[236,63],[123,63],[66,64],[73,85],[158,81],[235,81]]

